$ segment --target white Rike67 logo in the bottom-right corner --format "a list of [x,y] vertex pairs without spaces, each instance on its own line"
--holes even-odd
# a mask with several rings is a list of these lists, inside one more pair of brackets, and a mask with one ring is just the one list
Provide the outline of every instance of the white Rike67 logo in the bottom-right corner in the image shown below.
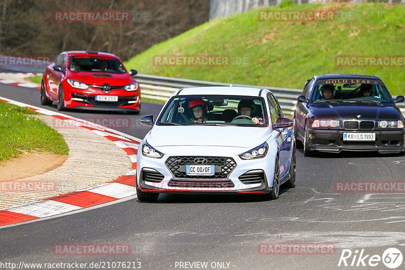
[[388,268],[395,269],[401,265],[402,258],[402,253],[397,248],[386,249],[382,256],[366,254],[364,249],[356,249],[354,252],[343,249],[338,266],[379,266],[381,269],[382,262]]

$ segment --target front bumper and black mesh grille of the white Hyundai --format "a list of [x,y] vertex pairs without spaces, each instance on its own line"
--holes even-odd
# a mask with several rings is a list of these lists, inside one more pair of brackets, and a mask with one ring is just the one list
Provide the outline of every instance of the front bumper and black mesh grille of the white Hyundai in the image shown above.
[[[238,154],[249,149],[236,148],[230,151],[229,147],[221,146],[162,147],[157,150],[165,155],[157,159],[144,156],[141,147],[142,144],[137,156],[137,188],[141,191],[206,194],[268,193],[272,190],[275,158],[270,151],[264,158],[244,160]],[[226,155],[230,153],[233,155]],[[215,165],[215,174],[203,177],[186,175],[185,165],[195,164],[192,160],[197,157],[207,158],[209,165]]]

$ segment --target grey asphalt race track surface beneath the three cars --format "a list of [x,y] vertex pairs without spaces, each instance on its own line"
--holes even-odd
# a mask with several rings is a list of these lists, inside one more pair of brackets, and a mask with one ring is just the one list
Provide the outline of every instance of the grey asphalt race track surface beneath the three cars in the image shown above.
[[[56,111],[55,105],[39,104],[39,89],[0,84],[0,96]],[[85,119],[129,117],[130,128],[115,129],[143,138],[149,128],[141,126],[139,118],[157,116],[160,108],[144,102],[140,115],[63,113]],[[257,195],[172,194],[160,195],[156,203],[141,203],[136,198],[118,200],[0,229],[0,262],[77,262],[87,263],[89,269],[91,262],[102,263],[105,268],[109,263],[110,269],[124,268],[112,267],[118,261],[131,262],[131,268],[141,262],[142,269],[387,269],[382,261],[371,267],[369,259],[382,257],[387,248],[405,254],[404,191],[338,193],[334,184],[403,181],[404,165],[405,157],[399,155],[349,152],[304,157],[302,149],[297,149],[297,187],[281,189],[277,200],[264,201]],[[328,243],[336,250],[334,254],[260,254],[261,243]],[[55,245],[59,244],[125,244],[131,246],[131,252],[57,255]],[[358,263],[357,267],[338,266],[343,249],[352,252],[347,258],[349,265],[362,249],[362,256],[369,256],[363,261],[355,258],[353,265]],[[208,264],[196,267],[204,264],[195,262]],[[361,266],[362,262],[367,266]]]

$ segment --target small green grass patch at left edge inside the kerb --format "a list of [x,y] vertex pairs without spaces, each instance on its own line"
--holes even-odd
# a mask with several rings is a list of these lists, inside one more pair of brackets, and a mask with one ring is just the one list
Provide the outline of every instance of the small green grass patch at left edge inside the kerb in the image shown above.
[[37,114],[0,101],[0,162],[18,157],[23,151],[69,154],[62,135],[37,119]]

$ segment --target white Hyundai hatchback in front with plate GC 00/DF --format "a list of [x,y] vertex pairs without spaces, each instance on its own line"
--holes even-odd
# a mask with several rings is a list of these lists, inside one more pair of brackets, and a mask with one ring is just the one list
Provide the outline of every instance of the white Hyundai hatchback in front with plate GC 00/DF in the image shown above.
[[244,193],[278,197],[295,187],[293,121],[268,89],[183,88],[173,94],[139,145],[137,195]]

